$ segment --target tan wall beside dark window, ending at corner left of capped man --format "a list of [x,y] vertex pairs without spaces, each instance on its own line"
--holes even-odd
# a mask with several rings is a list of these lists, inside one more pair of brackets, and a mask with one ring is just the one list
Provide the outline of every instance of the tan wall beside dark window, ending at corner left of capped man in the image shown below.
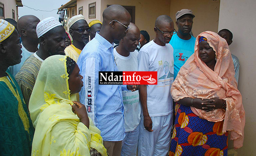
[[[146,30],[150,40],[154,39],[154,22],[159,15],[170,13],[170,0],[102,0],[101,14],[107,5],[120,4],[135,6],[135,24],[140,30]],[[156,9],[157,8],[157,9]]]

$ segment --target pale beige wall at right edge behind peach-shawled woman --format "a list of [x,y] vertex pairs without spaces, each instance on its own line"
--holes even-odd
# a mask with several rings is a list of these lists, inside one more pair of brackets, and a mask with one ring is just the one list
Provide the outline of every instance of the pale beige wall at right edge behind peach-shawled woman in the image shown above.
[[239,156],[255,156],[256,140],[256,52],[255,52],[255,0],[221,0],[218,30],[229,29],[233,33],[230,51],[239,58],[239,91],[242,94],[246,124],[244,146]]

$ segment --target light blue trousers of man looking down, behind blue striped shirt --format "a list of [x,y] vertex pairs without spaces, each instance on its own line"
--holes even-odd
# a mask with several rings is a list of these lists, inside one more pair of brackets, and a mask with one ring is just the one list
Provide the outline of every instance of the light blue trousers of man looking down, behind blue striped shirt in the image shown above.
[[125,132],[125,139],[122,141],[121,156],[136,156],[140,125],[131,132]]

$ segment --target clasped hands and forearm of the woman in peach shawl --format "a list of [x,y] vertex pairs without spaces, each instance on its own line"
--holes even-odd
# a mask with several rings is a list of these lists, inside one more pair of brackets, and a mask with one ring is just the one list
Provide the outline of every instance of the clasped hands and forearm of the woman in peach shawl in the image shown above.
[[186,98],[180,99],[177,102],[184,106],[195,107],[197,109],[205,110],[207,112],[215,109],[220,109],[223,105],[223,101],[219,98],[210,98],[210,99],[194,98],[193,104],[192,104],[192,98],[186,97]]

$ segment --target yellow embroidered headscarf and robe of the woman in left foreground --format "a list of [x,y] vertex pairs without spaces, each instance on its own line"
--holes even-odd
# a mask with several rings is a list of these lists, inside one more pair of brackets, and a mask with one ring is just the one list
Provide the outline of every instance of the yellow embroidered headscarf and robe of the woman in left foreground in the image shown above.
[[72,112],[76,95],[70,95],[66,58],[50,56],[38,73],[29,101],[35,127],[32,156],[89,156],[90,147],[106,156],[100,130],[91,119],[88,129]]

